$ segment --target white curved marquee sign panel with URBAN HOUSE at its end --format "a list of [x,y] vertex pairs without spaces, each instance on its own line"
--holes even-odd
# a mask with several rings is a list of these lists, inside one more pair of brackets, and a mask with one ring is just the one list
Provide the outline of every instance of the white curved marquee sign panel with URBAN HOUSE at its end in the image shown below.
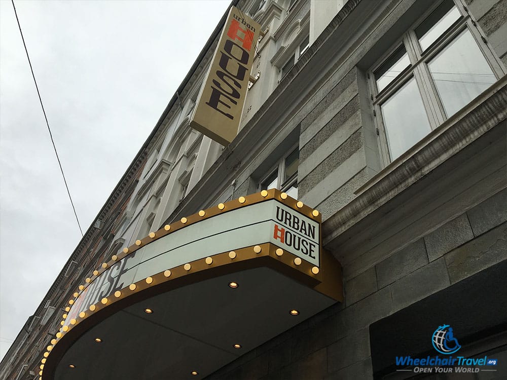
[[273,243],[319,266],[320,223],[270,199],[188,225],[139,248],[102,272],[75,299],[65,325],[90,305],[130,284],[207,256]]

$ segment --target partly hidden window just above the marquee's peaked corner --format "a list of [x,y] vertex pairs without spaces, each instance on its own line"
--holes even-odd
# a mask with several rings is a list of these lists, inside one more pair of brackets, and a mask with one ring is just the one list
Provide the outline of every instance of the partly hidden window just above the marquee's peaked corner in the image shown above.
[[260,190],[278,188],[290,197],[298,198],[299,146],[291,150],[273,167],[260,183]]

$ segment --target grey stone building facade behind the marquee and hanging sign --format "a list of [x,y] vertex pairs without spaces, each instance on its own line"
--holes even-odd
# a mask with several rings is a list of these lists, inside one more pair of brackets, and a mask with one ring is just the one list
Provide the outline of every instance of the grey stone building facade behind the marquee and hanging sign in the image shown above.
[[[238,135],[223,146],[189,126],[226,14],[18,334],[0,377],[505,378],[507,1],[234,0],[232,5],[263,28]],[[269,313],[260,325],[228,321],[231,329],[257,326],[245,335],[257,336],[255,346],[242,344],[234,355],[217,353],[220,360],[203,348],[202,365],[183,368],[184,375],[177,372],[184,359],[171,362],[174,349],[162,346],[153,351],[160,357],[126,356],[125,363],[134,363],[135,371],[127,372],[131,377],[107,369],[92,375],[90,368],[78,374],[85,364],[67,368],[70,362],[44,368],[52,355],[67,358],[51,352],[59,346],[51,340],[64,325],[62,314],[101,265],[110,265],[110,257],[120,257],[125,248],[127,254],[137,241],[143,247],[151,233],[192,221],[200,210],[209,214],[241,198],[253,202],[272,188],[310,212],[318,210],[320,245],[341,264],[343,300],[319,303],[319,310],[301,313],[300,320],[280,319],[276,328],[270,327]],[[253,280],[285,281],[259,276]],[[306,280],[288,282],[282,299],[296,291],[298,281]],[[281,302],[276,287],[260,288],[256,305],[274,308]],[[150,294],[155,296],[161,295]],[[256,302],[255,293],[249,297]],[[315,294],[301,297],[308,310],[320,302]],[[201,301],[195,292],[181,299]],[[248,309],[244,299],[227,300],[220,310]],[[189,314],[181,318],[192,324],[197,317],[185,310]],[[121,313],[127,312],[104,314],[102,322]],[[456,362],[436,372],[439,365],[404,359],[449,358],[434,340],[432,345],[432,336],[446,325],[454,329],[454,337],[445,330],[446,344],[459,350],[454,358],[487,357],[496,365]],[[150,326],[150,334],[161,334],[162,327]],[[219,347],[221,337],[213,339]],[[139,341],[117,341],[116,351],[98,357],[93,345],[83,346],[79,357],[94,358],[97,368],[118,367],[111,357],[123,349],[143,351]],[[191,356],[185,340],[178,345]],[[462,370],[472,372],[456,373]]]

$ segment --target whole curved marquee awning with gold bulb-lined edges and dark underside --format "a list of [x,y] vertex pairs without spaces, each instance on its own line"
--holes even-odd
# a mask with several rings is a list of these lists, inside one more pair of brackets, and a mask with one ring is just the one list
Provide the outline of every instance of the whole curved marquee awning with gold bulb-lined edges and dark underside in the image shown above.
[[137,240],[77,286],[40,380],[202,378],[343,301],[320,224],[270,189]]

